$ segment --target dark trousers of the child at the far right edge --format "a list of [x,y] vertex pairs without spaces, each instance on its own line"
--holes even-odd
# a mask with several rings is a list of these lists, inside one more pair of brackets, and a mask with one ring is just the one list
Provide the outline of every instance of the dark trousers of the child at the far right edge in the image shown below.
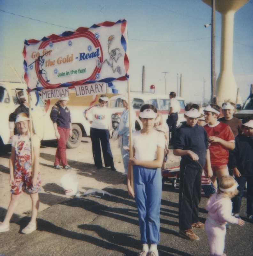
[[253,176],[240,176],[236,177],[235,180],[237,181],[239,187],[239,194],[232,198],[233,202],[233,211],[234,213],[240,212],[241,207],[241,199],[243,196],[243,190],[245,187],[245,183],[247,181],[247,214],[253,215]]

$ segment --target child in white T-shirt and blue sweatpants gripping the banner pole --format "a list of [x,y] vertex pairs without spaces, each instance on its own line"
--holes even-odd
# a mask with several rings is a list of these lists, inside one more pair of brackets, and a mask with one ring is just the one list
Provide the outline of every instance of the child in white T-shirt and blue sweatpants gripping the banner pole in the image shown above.
[[[158,256],[160,240],[160,207],[162,195],[161,166],[164,160],[165,137],[155,130],[157,108],[145,104],[139,118],[143,128],[133,133],[133,158],[127,172],[128,194],[135,197],[138,209],[142,252],[139,256]],[[130,165],[133,165],[134,190],[131,188]],[[150,248],[149,248],[150,244]]]

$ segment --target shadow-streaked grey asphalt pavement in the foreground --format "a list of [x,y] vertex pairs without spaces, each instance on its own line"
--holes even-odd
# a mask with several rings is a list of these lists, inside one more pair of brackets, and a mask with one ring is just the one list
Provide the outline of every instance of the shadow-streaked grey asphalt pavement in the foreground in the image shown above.
[[[107,175],[120,173],[104,171]],[[54,191],[53,185],[50,188]],[[11,230],[0,233],[0,255],[86,255],[86,256],[132,256],[138,255],[140,242],[138,213],[133,198],[128,196],[126,180],[123,183],[104,188],[111,196],[96,194],[83,199],[65,198],[39,212],[38,229],[29,235],[20,231],[28,224],[30,217],[13,216]],[[161,241],[158,245],[160,256],[201,256],[209,255],[207,236],[204,230],[196,230],[199,241],[188,241],[178,235],[178,193],[179,186],[163,184],[161,202]],[[48,198],[45,198],[48,196]],[[44,195],[41,200],[61,194]],[[101,197],[98,197],[101,196]],[[207,198],[200,203],[200,220],[205,221],[204,207]],[[246,220],[246,198],[243,197],[241,216]],[[0,220],[6,209],[0,208]],[[226,234],[225,253],[228,256],[253,255],[253,223],[245,222],[243,227],[232,225]]]

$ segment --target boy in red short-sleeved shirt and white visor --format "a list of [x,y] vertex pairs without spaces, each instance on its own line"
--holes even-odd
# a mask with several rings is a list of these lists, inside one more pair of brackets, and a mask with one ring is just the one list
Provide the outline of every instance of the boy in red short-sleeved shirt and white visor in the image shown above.
[[208,134],[209,149],[211,157],[211,166],[213,170],[213,176],[211,181],[217,188],[217,181],[224,176],[229,175],[228,164],[228,149],[234,149],[234,134],[231,128],[222,122],[218,121],[220,114],[220,107],[215,104],[210,104],[204,109],[205,121],[204,126]]

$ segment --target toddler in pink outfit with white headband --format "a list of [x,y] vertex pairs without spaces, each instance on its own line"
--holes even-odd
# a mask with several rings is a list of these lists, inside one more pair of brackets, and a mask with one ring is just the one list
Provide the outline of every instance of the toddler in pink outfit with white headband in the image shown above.
[[207,201],[208,218],[205,231],[208,237],[210,256],[226,256],[224,251],[226,222],[244,225],[244,221],[232,216],[231,198],[238,194],[238,183],[232,176],[222,176],[217,193]]

